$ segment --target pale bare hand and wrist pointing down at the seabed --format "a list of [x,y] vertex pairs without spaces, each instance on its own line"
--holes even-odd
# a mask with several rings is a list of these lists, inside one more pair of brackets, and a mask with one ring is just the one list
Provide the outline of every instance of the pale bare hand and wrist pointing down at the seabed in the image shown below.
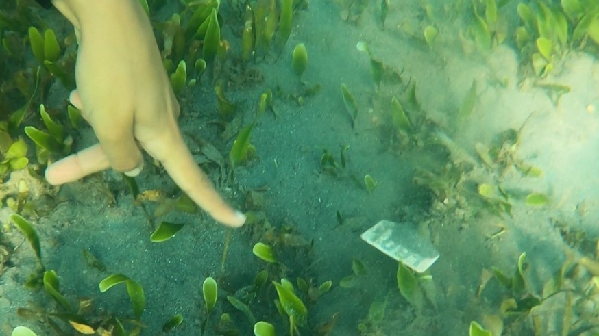
[[146,151],[212,218],[241,227],[245,216],[218,194],[182,138],[179,104],[138,1],[52,3],[77,33],[77,89],[70,101],[93,127],[99,144],[51,164],[47,181],[60,185],[108,168],[135,176],[143,168],[141,151]]

